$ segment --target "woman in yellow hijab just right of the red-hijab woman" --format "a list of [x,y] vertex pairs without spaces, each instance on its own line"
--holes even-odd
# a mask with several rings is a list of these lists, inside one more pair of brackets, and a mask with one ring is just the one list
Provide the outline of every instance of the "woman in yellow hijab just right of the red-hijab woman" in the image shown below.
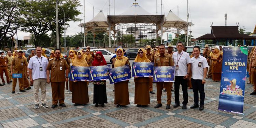
[[[129,65],[130,62],[127,57],[124,56],[124,51],[122,48],[118,48],[116,51],[116,58],[112,59],[112,68],[120,67],[124,65]],[[122,81],[114,84],[115,88],[115,101],[114,103],[117,104],[116,108],[125,108],[126,105],[130,104],[129,101],[129,91],[128,91],[128,80]]]

